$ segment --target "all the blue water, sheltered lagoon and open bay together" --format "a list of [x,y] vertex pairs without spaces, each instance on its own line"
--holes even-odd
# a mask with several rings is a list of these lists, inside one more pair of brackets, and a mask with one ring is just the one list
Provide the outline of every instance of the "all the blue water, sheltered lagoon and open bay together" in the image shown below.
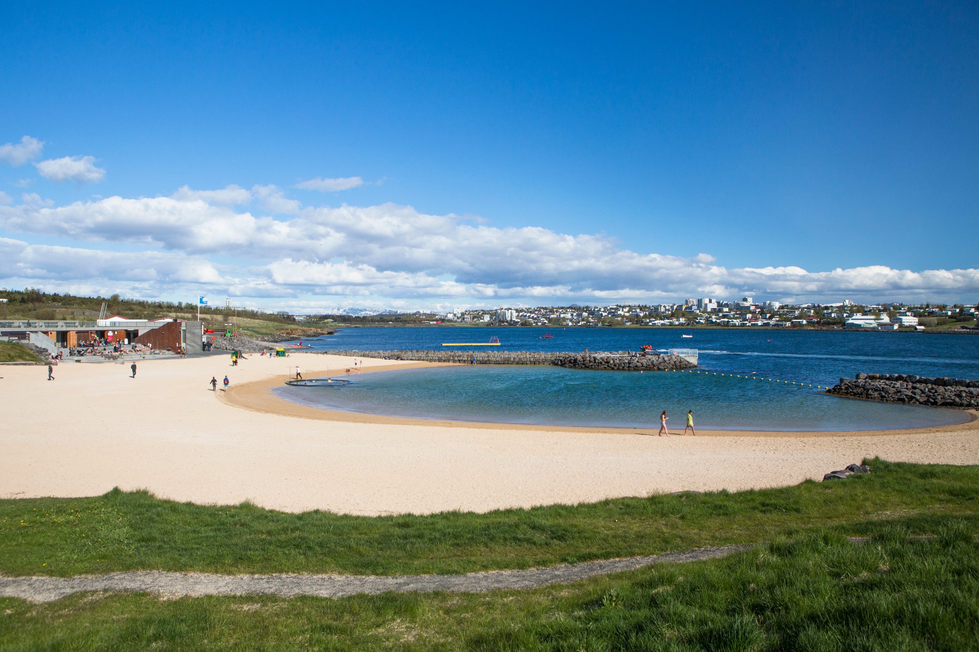
[[[545,332],[553,339],[541,339]],[[659,413],[666,409],[671,428],[681,431],[683,415],[692,409],[704,429],[852,431],[948,425],[968,417],[953,409],[826,396],[808,385],[832,385],[859,371],[979,378],[979,336],[692,333],[693,338],[680,339],[674,329],[352,328],[305,344],[316,349],[442,349],[443,342],[482,342],[491,336],[503,343],[499,349],[511,350],[634,350],[650,344],[700,349],[701,371],[710,373],[473,365],[365,374],[343,388],[274,392],[322,408],[414,418],[649,428],[658,427]]]

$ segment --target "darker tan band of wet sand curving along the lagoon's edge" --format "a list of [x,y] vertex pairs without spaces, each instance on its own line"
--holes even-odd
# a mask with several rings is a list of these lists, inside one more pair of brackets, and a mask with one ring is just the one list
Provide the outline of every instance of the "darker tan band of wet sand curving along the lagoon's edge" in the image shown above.
[[[371,359],[371,358],[367,358]],[[373,358],[378,359],[378,358]],[[306,371],[304,375],[314,378],[319,375],[340,377],[355,376],[361,373],[381,371],[400,371],[428,367],[459,366],[453,362],[405,362],[402,364],[380,364],[356,374],[331,374],[326,371]],[[233,387],[227,394],[218,398],[235,407],[265,414],[297,417],[314,421],[335,421],[341,423],[397,425],[397,426],[436,426],[439,428],[470,428],[474,430],[519,430],[548,433],[599,433],[603,435],[645,435],[659,437],[659,427],[651,424],[649,428],[626,428],[616,426],[562,426],[553,424],[525,424],[497,421],[459,421],[452,419],[425,419],[418,417],[389,416],[370,412],[348,412],[323,407],[313,407],[276,396],[272,390],[285,384],[288,377],[273,377],[245,383]],[[924,426],[921,428],[902,428],[891,430],[863,431],[767,431],[767,430],[698,430],[696,435],[683,435],[676,431],[669,437],[770,437],[770,438],[831,438],[831,437],[887,437],[894,435],[927,435],[935,433],[975,431],[979,432],[979,411],[961,410],[967,420],[946,426]],[[649,432],[646,432],[649,431]]]

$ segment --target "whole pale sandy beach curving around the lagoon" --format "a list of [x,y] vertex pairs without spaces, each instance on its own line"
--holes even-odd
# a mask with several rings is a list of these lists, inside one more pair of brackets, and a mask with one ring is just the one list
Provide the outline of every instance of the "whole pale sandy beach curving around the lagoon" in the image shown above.
[[[407,363],[365,359],[367,370]],[[979,463],[979,421],[862,433],[550,428],[329,412],[269,392],[352,366],[311,353],[0,366],[0,497],[114,487],[199,503],[380,515],[576,503],[677,490],[797,484],[858,462]],[[211,376],[227,374],[227,393]],[[652,424],[650,424],[652,426]]]

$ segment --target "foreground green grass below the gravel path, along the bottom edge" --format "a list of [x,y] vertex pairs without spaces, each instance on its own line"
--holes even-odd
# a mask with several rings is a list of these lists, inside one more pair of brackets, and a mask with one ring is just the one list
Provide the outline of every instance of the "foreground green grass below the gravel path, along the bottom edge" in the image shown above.
[[14,650],[969,650],[974,524],[814,532],[722,560],[487,594],[0,599]]

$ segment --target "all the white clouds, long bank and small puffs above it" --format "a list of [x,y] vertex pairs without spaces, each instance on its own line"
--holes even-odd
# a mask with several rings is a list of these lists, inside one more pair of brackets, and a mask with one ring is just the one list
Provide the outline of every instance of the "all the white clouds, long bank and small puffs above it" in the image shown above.
[[[39,158],[24,136],[0,160]],[[45,178],[98,182],[95,159],[34,163]],[[337,192],[359,176],[296,185]],[[311,206],[274,184],[169,196],[90,198],[56,205],[36,193],[0,194],[0,280],[56,292],[186,299],[225,294],[246,303],[315,310],[337,304],[401,308],[499,304],[664,303],[693,296],[794,301],[974,303],[979,269],[913,271],[883,265],[808,271],[728,268],[715,256],[640,253],[602,234],[495,227],[392,203]],[[67,245],[32,243],[57,238]]]

